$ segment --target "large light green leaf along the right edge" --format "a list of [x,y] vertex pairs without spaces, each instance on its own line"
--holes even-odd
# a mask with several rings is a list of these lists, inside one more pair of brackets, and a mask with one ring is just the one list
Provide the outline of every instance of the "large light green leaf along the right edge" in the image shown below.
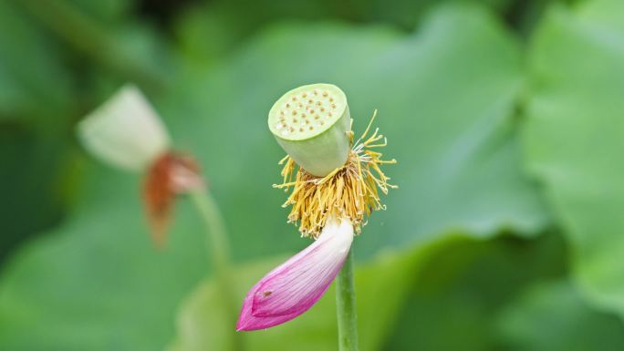
[[624,314],[624,3],[553,7],[530,58],[527,165],[572,244],[581,290]]

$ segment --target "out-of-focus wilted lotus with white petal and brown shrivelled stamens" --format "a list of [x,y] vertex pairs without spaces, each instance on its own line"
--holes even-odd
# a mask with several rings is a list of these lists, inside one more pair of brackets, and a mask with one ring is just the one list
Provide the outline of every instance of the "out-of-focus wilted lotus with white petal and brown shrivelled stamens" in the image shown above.
[[99,160],[144,174],[143,201],[151,235],[162,246],[175,195],[202,187],[197,163],[172,151],[158,114],[131,85],[80,121],[78,137]]

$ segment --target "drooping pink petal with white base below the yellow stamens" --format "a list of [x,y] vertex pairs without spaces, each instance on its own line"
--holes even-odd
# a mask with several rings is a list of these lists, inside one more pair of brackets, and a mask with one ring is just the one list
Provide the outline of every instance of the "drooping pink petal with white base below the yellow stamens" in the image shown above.
[[352,241],[350,222],[328,222],[314,243],[266,274],[247,293],[236,330],[280,325],[306,312],[336,278]]

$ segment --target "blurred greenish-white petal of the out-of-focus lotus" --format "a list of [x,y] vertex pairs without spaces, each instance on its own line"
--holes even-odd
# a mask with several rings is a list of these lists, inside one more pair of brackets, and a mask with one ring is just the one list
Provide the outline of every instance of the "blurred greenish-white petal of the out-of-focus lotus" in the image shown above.
[[144,170],[171,144],[158,114],[132,85],[82,120],[78,137],[95,157],[126,170]]

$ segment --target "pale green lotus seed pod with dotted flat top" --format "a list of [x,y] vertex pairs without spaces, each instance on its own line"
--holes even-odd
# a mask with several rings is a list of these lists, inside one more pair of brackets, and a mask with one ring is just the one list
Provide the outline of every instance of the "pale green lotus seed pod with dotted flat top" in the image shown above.
[[324,177],[345,164],[351,118],[347,97],[331,84],[292,89],[269,111],[277,143],[307,172]]

